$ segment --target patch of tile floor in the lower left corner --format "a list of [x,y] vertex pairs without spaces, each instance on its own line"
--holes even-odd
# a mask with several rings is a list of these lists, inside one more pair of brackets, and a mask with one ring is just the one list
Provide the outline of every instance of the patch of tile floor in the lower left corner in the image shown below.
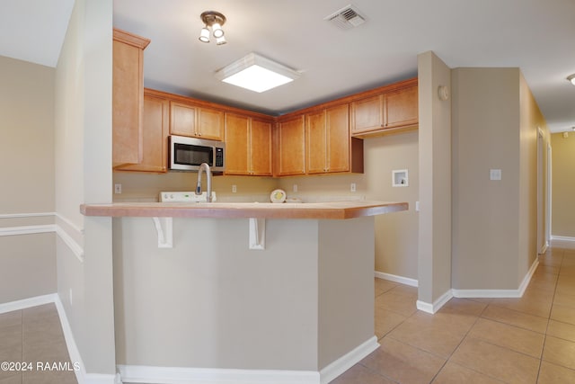
[[27,371],[3,366],[0,384],[77,384],[54,304],[0,314],[0,362],[31,363]]

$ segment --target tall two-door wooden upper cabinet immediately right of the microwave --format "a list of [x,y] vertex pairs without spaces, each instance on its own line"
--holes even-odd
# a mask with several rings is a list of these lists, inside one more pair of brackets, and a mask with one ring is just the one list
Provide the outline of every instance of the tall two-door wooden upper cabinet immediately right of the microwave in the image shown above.
[[226,112],[226,174],[272,174],[271,121]]

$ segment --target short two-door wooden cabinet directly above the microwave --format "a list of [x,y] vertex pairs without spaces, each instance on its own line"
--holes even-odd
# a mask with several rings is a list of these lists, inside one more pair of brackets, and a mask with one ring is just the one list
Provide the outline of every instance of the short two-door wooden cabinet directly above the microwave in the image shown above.
[[192,138],[224,139],[225,113],[194,103],[170,102],[170,134]]

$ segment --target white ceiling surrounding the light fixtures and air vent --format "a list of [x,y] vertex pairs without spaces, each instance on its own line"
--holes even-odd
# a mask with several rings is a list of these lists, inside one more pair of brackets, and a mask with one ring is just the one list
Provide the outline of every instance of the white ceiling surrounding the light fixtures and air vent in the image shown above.
[[[3,0],[0,55],[54,67],[74,0]],[[152,42],[147,87],[281,114],[417,76],[433,50],[448,67],[519,67],[553,131],[575,126],[573,0],[114,0],[115,27]],[[324,17],[347,4],[367,22],[342,31]],[[199,14],[224,13],[228,43],[201,43]],[[262,94],[215,71],[250,52],[302,72]]]

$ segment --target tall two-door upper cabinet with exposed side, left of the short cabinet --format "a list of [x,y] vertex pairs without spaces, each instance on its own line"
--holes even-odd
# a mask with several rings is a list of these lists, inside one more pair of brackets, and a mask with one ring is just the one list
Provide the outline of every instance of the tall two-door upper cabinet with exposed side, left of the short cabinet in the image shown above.
[[305,114],[307,174],[363,173],[363,140],[349,137],[349,104]]

